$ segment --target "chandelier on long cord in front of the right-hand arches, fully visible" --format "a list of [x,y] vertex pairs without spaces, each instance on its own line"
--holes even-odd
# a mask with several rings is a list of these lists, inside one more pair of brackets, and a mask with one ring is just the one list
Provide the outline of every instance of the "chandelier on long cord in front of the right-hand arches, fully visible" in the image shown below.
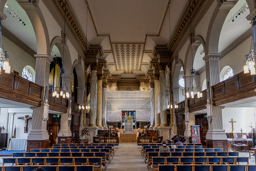
[[[189,9],[190,9],[190,0],[189,0]],[[191,30],[191,11],[190,13],[190,44],[191,44],[191,58],[192,58],[192,69],[191,69],[191,75],[189,79],[189,83],[187,83],[187,98],[189,98],[189,92],[191,92],[191,98],[194,98],[194,92],[197,92],[197,98],[202,98],[203,94],[201,92],[201,88],[198,84],[197,78],[196,78],[196,70],[193,67],[193,51],[192,51],[192,43],[193,43],[193,34]],[[196,86],[194,86],[194,78],[196,82]]]

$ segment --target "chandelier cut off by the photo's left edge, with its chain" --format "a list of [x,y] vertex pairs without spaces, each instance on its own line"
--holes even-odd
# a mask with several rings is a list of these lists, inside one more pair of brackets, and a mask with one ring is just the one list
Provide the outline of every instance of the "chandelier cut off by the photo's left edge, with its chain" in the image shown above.
[[3,20],[0,17],[0,35],[1,35],[1,42],[2,42],[2,50],[0,51],[0,61],[3,62],[3,66],[1,66],[1,67],[3,67],[3,69],[5,70],[5,73],[11,73],[11,66],[9,64],[9,62],[10,62],[9,56],[7,55],[7,52],[4,51],[3,35],[2,35],[2,22],[3,22]]

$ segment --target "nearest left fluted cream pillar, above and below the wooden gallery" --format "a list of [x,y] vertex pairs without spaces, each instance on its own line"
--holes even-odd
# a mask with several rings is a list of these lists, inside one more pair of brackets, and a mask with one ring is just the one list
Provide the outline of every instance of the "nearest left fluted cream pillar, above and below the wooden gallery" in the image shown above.
[[[49,86],[49,71],[50,71],[50,62],[52,61],[52,57],[50,55],[39,55],[35,54],[35,83],[39,84],[40,86],[44,86],[44,88],[47,88]],[[45,91],[44,91],[45,94]],[[43,95],[44,97],[44,95]],[[29,136],[27,137],[27,150],[30,149],[30,143],[31,142],[38,142],[41,144],[39,148],[43,148],[42,141],[49,141],[49,134],[46,130],[46,124],[47,124],[47,117],[48,116],[48,110],[49,105],[43,104],[41,107],[31,107],[33,109],[32,114],[32,127],[31,131],[29,132]],[[47,143],[48,144],[48,143]],[[47,145],[48,146],[48,145]],[[46,146],[44,146],[46,147]],[[48,147],[47,147],[48,148]]]

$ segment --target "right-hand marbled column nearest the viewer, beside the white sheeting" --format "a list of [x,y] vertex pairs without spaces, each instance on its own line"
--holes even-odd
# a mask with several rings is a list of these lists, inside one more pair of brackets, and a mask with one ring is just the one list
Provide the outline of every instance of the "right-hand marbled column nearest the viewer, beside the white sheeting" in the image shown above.
[[166,113],[166,83],[165,83],[165,68],[166,64],[159,64],[159,84],[160,84],[160,126],[168,126]]

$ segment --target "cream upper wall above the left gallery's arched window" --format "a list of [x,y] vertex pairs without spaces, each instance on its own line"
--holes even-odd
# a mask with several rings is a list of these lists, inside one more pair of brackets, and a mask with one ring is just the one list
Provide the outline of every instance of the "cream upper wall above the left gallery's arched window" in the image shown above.
[[[26,65],[30,65],[35,70],[35,58],[26,53],[23,49],[12,43],[11,40],[3,36],[4,50],[7,51],[10,59],[11,72],[13,70],[19,72],[21,76],[22,70]],[[33,75],[33,79],[34,79]]]

